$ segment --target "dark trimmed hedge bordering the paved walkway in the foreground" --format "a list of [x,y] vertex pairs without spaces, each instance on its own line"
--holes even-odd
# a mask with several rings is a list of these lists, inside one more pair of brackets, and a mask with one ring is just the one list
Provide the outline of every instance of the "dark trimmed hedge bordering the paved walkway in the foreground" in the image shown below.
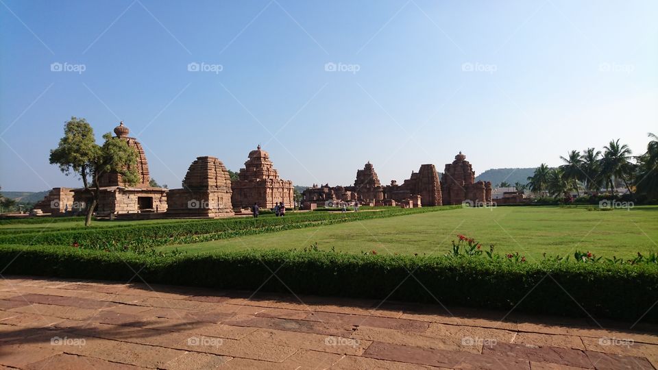
[[[381,256],[323,251],[145,255],[71,247],[0,247],[3,274],[146,282],[658,323],[658,265]],[[413,271],[413,277],[409,276]],[[402,284],[400,284],[402,282]],[[422,283],[422,284],[420,284]],[[392,292],[392,293],[391,293]],[[431,293],[431,294],[430,294]],[[390,296],[389,296],[390,294]]]

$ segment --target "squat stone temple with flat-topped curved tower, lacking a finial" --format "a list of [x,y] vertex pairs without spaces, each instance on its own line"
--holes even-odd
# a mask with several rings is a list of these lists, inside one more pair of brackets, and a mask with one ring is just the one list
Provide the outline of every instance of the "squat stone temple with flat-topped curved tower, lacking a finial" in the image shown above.
[[215,218],[233,214],[231,178],[219,159],[198,157],[182,186],[167,193],[167,216]]

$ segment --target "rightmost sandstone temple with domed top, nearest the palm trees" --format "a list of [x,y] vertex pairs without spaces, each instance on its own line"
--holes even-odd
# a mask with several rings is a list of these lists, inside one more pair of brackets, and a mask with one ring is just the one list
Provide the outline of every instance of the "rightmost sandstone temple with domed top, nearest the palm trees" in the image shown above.
[[475,171],[459,152],[452,163],[446,164],[441,177],[443,204],[491,203],[491,182],[475,182]]

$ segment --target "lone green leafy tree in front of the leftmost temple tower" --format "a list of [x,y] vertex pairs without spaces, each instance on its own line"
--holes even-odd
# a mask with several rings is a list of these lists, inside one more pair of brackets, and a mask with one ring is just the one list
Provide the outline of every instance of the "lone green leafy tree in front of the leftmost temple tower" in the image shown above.
[[103,140],[103,145],[98,145],[94,130],[86,119],[73,116],[64,125],[64,136],[58,147],[50,151],[50,163],[57,164],[65,175],[79,175],[84,191],[90,196],[85,226],[91,225],[100,193],[98,179],[103,174],[117,172],[127,185],[139,181],[137,152],[125,140],[113,137],[109,132],[103,135]]

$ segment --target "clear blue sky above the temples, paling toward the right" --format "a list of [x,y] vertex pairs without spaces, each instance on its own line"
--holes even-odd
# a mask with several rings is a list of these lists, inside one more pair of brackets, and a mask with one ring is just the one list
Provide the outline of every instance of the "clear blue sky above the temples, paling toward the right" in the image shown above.
[[639,153],[656,19],[654,0],[1,0],[0,186],[80,186],[48,163],[71,116],[99,140],[123,120],[169,188],[258,143],[300,185],[367,161],[402,182],[459,151],[476,173],[612,138]]

